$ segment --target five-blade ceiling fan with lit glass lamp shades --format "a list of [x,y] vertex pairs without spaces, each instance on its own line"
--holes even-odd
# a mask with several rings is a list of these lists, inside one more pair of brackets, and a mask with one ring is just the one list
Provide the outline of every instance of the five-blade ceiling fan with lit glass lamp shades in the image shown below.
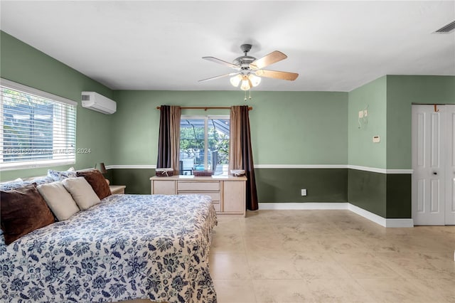
[[205,60],[223,64],[225,66],[233,68],[237,70],[237,72],[218,75],[215,77],[199,80],[199,82],[230,76],[231,77],[230,83],[233,86],[238,87],[238,85],[242,83],[240,89],[250,90],[251,87],[256,87],[257,85],[259,85],[259,83],[261,82],[261,77],[289,81],[294,81],[296,80],[297,77],[299,77],[299,74],[297,73],[280,72],[278,70],[264,70],[264,68],[266,68],[267,66],[286,59],[287,55],[284,55],[284,53],[278,50],[274,50],[272,51],[272,53],[269,53],[268,55],[264,55],[264,57],[257,59],[255,57],[247,55],[247,53],[251,50],[251,47],[252,47],[251,44],[242,44],[240,48],[242,49],[244,55],[235,58],[235,60],[232,61],[232,63],[220,60],[215,57],[203,57],[203,59]]

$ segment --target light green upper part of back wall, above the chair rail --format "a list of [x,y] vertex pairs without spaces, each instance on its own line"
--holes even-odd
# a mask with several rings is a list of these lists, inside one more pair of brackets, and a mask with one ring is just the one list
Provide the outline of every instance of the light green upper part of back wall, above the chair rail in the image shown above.
[[[346,92],[116,91],[115,164],[156,164],[159,105],[231,106],[250,111],[255,164],[347,164]],[[183,110],[229,115],[229,110]]]

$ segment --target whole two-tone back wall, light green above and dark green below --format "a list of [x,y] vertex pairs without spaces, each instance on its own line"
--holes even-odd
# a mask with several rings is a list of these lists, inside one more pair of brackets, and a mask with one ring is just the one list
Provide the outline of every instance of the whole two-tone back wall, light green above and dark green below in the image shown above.
[[[159,105],[245,104],[253,107],[250,126],[255,165],[347,164],[348,93],[252,91],[252,100],[247,102],[244,96],[241,91],[115,91],[114,163],[156,164]],[[229,110],[183,110],[182,114],[229,115]],[[346,169],[255,171],[261,202],[347,201]],[[114,169],[113,182],[127,185],[127,193],[150,193],[149,177],[153,175],[153,169]],[[308,196],[301,196],[301,188],[308,189]]]

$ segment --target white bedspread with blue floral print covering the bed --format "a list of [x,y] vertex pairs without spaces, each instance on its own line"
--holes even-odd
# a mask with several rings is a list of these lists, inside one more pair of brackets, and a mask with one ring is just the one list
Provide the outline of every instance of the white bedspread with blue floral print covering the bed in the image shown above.
[[6,246],[1,302],[216,302],[210,197],[112,195]]

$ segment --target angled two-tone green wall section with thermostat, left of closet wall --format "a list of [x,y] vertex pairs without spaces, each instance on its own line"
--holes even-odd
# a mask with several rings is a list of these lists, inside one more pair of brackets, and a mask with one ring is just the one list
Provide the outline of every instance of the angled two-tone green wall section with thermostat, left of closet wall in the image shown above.
[[[387,167],[387,78],[383,76],[348,94],[348,164],[375,169]],[[360,110],[368,116],[359,119]],[[380,136],[373,143],[373,136]],[[385,218],[387,175],[348,170],[348,201]]]

